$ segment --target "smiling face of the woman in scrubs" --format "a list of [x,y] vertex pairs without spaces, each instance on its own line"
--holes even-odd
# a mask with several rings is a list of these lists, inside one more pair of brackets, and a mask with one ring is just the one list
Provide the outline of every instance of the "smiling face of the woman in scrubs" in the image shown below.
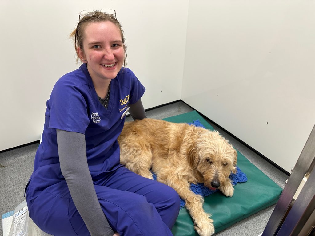
[[125,52],[121,32],[110,21],[86,25],[83,50],[77,50],[80,57],[87,61],[93,82],[114,79],[123,66]]

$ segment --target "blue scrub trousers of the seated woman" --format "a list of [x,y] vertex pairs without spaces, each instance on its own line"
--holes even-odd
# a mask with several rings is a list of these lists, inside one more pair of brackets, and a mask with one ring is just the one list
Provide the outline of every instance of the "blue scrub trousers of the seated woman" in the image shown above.
[[[173,188],[125,167],[105,172],[94,184],[101,208],[114,232],[121,236],[173,235],[171,229],[180,210],[180,198]],[[26,199],[27,194],[26,191]],[[31,219],[46,233],[90,235],[66,181],[46,188],[27,204]]]

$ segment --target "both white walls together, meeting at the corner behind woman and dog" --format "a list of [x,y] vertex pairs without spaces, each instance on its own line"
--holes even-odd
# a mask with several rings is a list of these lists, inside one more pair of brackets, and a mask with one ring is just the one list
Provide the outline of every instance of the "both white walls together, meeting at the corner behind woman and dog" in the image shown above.
[[315,123],[314,4],[0,1],[0,150],[40,138],[55,81],[77,68],[78,12],[112,8],[145,108],[182,98],[289,171]]

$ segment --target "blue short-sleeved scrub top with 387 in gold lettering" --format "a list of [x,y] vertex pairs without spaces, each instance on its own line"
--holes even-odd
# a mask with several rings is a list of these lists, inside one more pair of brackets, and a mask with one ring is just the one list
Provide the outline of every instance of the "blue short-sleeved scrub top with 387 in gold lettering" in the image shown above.
[[27,185],[31,199],[49,186],[65,181],[60,170],[56,129],[85,134],[93,181],[120,166],[117,137],[125,121],[122,115],[129,104],[142,97],[145,87],[128,68],[122,68],[110,86],[106,109],[98,100],[86,64],[56,82],[47,101],[42,142]]

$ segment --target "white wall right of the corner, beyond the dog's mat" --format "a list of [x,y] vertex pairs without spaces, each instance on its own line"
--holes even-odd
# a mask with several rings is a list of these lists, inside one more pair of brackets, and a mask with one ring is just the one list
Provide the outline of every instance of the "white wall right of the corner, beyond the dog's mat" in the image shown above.
[[315,123],[314,12],[314,1],[189,1],[182,100],[286,171]]

